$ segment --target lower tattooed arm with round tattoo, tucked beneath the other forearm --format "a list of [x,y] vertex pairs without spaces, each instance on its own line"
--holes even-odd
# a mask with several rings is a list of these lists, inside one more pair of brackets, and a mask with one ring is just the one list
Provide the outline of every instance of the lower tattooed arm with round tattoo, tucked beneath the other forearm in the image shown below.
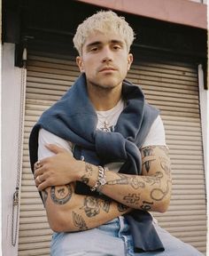
[[109,199],[77,195],[72,184],[47,188],[42,193],[50,228],[56,232],[97,228],[131,211]]

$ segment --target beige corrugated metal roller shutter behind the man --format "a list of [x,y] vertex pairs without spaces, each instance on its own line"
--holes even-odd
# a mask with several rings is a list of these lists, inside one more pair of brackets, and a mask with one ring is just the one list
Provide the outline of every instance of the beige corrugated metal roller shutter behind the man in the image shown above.
[[[44,109],[79,76],[73,59],[35,54],[27,63],[24,163],[21,186],[19,256],[50,255],[51,230],[28,160],[28,136]],[[140,60],[128,79],[142,84],[147,100],[161,110],[173,164],[169,211],[155,213],[162,228],[205,252],[205,173],[198,102],[197,68],[186,63]]]

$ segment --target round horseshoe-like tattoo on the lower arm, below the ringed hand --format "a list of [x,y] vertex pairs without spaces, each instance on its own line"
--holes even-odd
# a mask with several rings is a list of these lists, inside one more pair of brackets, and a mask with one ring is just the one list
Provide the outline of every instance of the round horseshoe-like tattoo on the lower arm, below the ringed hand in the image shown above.
[[50,197],[55,204],[66,204],[72,196],[72,188],[70,184],[65,186],[52,186],[50,188]]

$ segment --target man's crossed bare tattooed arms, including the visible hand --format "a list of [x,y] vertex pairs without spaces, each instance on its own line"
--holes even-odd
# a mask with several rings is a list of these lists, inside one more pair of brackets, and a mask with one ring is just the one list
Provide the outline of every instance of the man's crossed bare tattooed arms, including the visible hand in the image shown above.
[[96,228],[133,209],[166,212],[171,195],[170,161],[166,147],[142,149],[141,176],[108,171],[107,183],[102,189],[106,197],[74,193],[76,180],[85,182],[89,187],[95,185],[98,176],[96,165],[75,160],[72,153],[55,145],[47,148],[55,156],[41,160],[35,170],[35,183],[42,191],[50,228],[54,231]]

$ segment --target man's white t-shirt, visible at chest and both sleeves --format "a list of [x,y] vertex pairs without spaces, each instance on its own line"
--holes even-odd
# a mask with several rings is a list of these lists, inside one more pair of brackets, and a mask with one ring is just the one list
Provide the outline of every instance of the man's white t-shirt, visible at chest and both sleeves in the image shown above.
[[[124,101],[120,100],[118,104],[107,111],[97,111],[97,129],[103,131],[114,131],[114,126],[117,124],[117,120],[124,108]],[[53,156],[49,149],[45,148],[46,144],[56,144],[61,148],[66,148],[70,152],[72,151],[72,143],[70,141],[63,140],[57,135],[41,129],[39,132],[39,148],[38,148],[38,159],[42,159],[47,156]],[[143,147],[147,146],[166,146],[165,130],[161,117],[158,116],[151,125],[151,130],[148,133],[146,139],[143,142]]]

